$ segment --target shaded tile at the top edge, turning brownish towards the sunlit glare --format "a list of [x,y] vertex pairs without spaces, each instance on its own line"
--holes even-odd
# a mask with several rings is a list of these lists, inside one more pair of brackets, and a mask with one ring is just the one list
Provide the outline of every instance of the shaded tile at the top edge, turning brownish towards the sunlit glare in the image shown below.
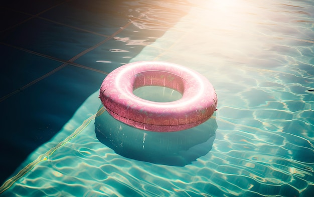
[[40,17],[94,33],[111,35],[128,23],[134,13],[125,1],[69,1]]

